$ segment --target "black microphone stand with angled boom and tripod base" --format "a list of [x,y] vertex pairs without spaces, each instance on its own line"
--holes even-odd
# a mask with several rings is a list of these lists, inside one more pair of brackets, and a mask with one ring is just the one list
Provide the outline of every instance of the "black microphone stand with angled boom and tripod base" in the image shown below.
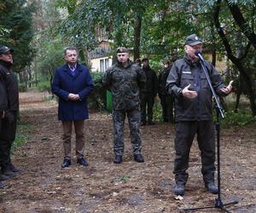
[[212,209],[212,208],[217,208],[219,210],[222,210],[224,212],[230,213],[229,210],[227,210],[224,206],[225,205],[230,205],[230,204],[238,204],[238,201],[232,201],[227,204],[223,204],[221,200],[221,193],[220,193],[220,123],[219,123],[219,118],[224,118],[224,112],[223,108],[220,106],[219,101],[218,101],[218,96],[216,95],[215,90],[212,87],[212,81],[209,77],[209,74],[207,72],[207,68],[205,66],[205,61],[203,60],[202,56],[200,53],[195,53],[200,59],[201,67],[203,69],[203,72],[205,76],[207,77],[207,83],[209,84],[213,99],[215,101],[215,109],[216,109],[216,116],[217,116],[217,123],[216,123],[216,132],[217,132],[217,168],[218,168],[218,198],[215,199],[215,204],[212,206],[204,206],[204,207],[195,207],[195,208],[185,208],[185,209],[180,209],[180,210],[204,210],[204,209]]

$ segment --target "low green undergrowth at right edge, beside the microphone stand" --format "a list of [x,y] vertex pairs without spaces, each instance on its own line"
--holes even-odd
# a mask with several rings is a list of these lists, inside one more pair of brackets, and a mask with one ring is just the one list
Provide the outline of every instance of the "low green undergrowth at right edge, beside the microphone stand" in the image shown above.
[[221,121],[221,124],[225,128],[229,128],[234,125],[246,125],[256,123],[256,117],[252,116],[249,110],[239,110],[238,112],[226,112],[225,118]]

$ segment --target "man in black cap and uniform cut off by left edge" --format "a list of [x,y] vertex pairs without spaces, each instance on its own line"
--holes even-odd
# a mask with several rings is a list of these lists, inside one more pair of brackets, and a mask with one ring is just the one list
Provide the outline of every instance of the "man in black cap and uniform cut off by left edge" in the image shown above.
[[14,62],[13,52],[13,49],[0,45],[0,74],[3,77],[8,100],[8,109],[2,120],[0,131],[1,171],[6,176],[14,176],[16,172],[20,171],[15,168],[10,159],[11,146],[15,141],[17,113],[19,110],[18,83],[15,80],[14,72],[11,70]]

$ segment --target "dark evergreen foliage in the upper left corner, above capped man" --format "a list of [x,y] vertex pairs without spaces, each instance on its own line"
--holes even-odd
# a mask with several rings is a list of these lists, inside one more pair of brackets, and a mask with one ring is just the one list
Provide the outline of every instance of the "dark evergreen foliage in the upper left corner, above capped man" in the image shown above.
[[0,7],[1,43],[15,49],[15,71],[20,72],[31,63],[34,50],[32,14],[35,7],[25,0],[3,1]]

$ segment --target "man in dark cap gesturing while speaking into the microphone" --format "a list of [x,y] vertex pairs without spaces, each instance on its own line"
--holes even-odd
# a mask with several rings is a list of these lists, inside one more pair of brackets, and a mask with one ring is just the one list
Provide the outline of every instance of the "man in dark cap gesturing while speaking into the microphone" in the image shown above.
[[[215,139],[212,124],[212,92],[195,51],[202,50],[201,38],[195,34],[185,40],[185,55],[176,60],[167,78],[168,92],[175,97],[176,138],[174,161],[175,194],[183,195],[189,174],[189,152],[195,134],[201,150],[201,173],[210,193],[218,193],[214,184]],[[228,95],[232,82],[226,87],[214,66],[205,61],[212,87],[218,95]]]

